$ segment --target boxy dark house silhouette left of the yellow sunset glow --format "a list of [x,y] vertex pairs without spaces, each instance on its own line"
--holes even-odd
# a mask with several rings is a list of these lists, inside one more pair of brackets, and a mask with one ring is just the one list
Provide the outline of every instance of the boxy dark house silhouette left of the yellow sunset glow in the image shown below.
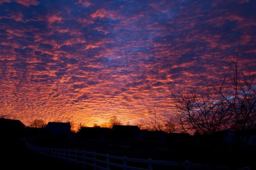
[[46,131],[49,135],[53,136],[69,136],[70,135],[70,123],[62,122],[49,122],[46,126]]

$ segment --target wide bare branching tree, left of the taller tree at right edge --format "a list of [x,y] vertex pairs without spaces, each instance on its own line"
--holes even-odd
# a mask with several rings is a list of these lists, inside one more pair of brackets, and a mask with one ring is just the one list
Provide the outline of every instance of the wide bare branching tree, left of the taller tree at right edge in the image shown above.
[[211,134],[225,130],[228,125],[226,103],[219,100],[216,93],[206,90],[205,94],[172,92],[178,110],[177,118],[182,131]]

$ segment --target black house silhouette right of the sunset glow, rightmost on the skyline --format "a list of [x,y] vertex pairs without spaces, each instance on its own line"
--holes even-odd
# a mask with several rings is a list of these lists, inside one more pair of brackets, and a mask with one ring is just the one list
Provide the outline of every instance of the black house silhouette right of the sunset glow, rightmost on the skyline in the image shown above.
[[140,128],[138,126],[114,125],[112,138],[121,140],[141,140]]

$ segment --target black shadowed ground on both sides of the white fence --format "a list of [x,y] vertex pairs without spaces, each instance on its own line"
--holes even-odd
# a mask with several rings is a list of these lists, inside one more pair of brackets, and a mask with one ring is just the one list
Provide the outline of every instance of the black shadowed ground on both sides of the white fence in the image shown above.
[[[48,142],[47,142],[48,141]],[[50,142],[51,141],[51,142]],[[98,153],[109,153],[116,156],[127,156],[132,158],[147,159],[153,158],[155,160],[166,160],[169,161],[178,161],[184,162],[184,160],[189,160],[193,163],[205,163],[205,164],[215,164],[215,165],[224,165],[231,167],[231,169],[237,169],[237,167],[246,167],[249,166],[251,169],[256,169],[255,152],[245,152],[245,149],[230,149],[229,152],[224,152],[227,148],[218,149],[212,148],[197,148],[196,150],[192,149],[182,149],[175,147],[176,149],[167,150],[166,147],[162,146],[162,151],[152,150],[153,145],[148,147],[144,144],[137,147],[129,148],[119,148],[117,145],[110,145],[108,142],[89,142],[83,141],[83,146],[79,146],[76,143],[75,145],[67,144],[65,140],[42,140],[40,142],[47,144],[47,147],[50,148],[76,148],[78,150],[86,151],[96,151]],[[60,142],[61,141],[61,142]],[[40,142],[35,142],[33,144],[40,145]],[[62,145],[62,147],[61,147]],[[65,146],[65,147],[64,147]],[[144,148],[151,148],[150,151],[144,150]],[[221,151],[222,150],[222,151]],[[237,150],[237,151],[236,151]],[[240,150],[240,151],[239,151]],[[48,156],[38,155],[28,150],[24,141],[20,139],[8,139],[2,138],[0,140],[0,158],[1,158],[1,167],[0,169],[84,169],[80,165],[75,165],[73,163],[64,162],[55,158]],[[153,152],[154,151],[154,152]],[[205,151],[205,152],[203,152]],[[243,152],[242,152],[243,151]],[[144,154],[142,154],[144,153]],[[145,154],[146,153],[146,154]],[[167,154],[168,153],[168,154]],[[218,154],[219,153],[219,154]],[[226,154],[223,154],[226,153]],[[248,154],[250,153],[250,154]],[[190,158],[190,159],[189,159]],[[180,160],[179,160],[180,159]],[[91,168],[86,168],[90,170]]]

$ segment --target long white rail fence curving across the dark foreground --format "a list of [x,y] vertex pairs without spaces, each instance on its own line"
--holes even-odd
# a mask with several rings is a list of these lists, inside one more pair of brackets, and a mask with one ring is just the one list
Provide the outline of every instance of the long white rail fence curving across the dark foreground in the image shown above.
[[[209,170],[227,170],[231,169],[229,167],[222,167],[222,166],[211,166],[211,165],[202,165],[202,164],[195,164],[189,163],[185,161],[184,163],[178,162],[171,162],[171,161],[159,161],[159,160],[152,160],[152,159],[134,159],[134,158],[127,158],[125,156],[113,156],[109,154],[99,154],[95,152],[86,152],[86,151],[79,151],[79,150],[71,150],[71,149],[53,149],[53,148],[46,148],[46,147],[37,147],[26,142],[27,147],[41,155],[48,155],[58,159],[62,159],[68,162],[78,163],[86,166],[93,167],[94,170],[96,169],[103,169],[109,170],[111,167],[119,167],[123,170],[153,170],[159,169],[159,165],[169,167],[180,167],[181,169],[190,170],[190,169],[209,169]],[[129,164],[129,165],[127,165]],[[134,165],[140,164],[143,167],[135,167]],[[250,170],[249,167],[245,168],[237,168],[238,170]]]

